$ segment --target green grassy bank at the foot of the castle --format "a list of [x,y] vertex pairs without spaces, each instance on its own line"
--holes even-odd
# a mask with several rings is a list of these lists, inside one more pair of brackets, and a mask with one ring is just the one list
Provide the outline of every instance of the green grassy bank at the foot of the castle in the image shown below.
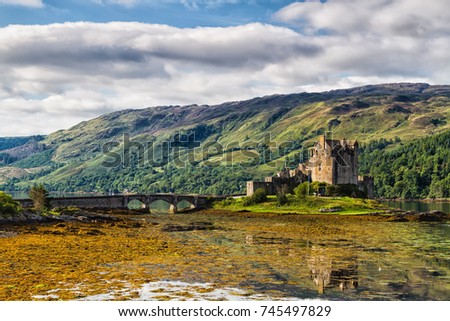
[[[288,195],[288,203],[278,205],[275,196],[268,196],[267,202],[244,206],[244,198],[227,199],[214,204],[215,209],[231,211],[250,211],[255,213],[279,213],[279,214],[338,214],[338,215],[358,215],[380,212],[385,207],[377,201],[351,198],[351,197],[306,197],[298,199],[293,195]],[[327,211],[328,210],[328,211]],[[334,210],[334,211],[333,211]]]

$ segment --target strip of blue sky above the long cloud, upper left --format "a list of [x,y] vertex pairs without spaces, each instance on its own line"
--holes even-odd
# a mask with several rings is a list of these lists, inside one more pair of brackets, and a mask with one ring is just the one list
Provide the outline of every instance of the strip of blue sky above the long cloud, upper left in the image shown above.
[[273,22],[272,14],[292,1],[44,0],[41,3],[42,6],[38,1],[22,5],[0,4],[0,26],[66,21],[138,21],[176,27],[224,27]]

